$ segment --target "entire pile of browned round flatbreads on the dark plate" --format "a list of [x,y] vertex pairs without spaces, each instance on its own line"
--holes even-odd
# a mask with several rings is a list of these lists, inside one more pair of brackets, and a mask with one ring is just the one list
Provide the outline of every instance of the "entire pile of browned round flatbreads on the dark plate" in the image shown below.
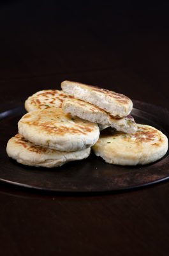
[[18,163],[54,167],[89,156],[107,163],[152,163],[166,154],[168,139],[149,125],[136,124],[132,101],[95,86],[64,81],[62,90],[43,90],[29,97],[29,112],[7,144]]

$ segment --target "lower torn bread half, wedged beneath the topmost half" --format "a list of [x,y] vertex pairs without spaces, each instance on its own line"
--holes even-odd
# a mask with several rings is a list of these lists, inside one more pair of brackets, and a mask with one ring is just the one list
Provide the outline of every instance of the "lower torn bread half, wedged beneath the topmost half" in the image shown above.
[[111,126],[117,131],[134,134],[137,129],[133,116],[128,115],[123,118],[115,118],[103,109],[83,100],[65,99],[62,103],[62,110],[64,113],[70,113],[72,116],[78,116],[89,122],[107,125],[107,127]]

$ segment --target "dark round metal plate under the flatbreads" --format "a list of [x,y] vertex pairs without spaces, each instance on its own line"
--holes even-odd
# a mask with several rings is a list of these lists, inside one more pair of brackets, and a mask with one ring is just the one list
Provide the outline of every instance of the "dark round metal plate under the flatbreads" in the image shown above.
[[[94,154],[85,160],[67,163],[59,168],[35,168],[18,164],[7,156],[6,143],[17,133],[17,122],[26,113],[24,100],[21,102],[0,108],[1,181],[47,191],[104,192],[138,188],[169,179],[168,152],[163,159],[144,166],[108,164]],[[137,123],[152,125],[168,137],[168,110],[136,100],[133,103],[135,108],[132,115]]]

